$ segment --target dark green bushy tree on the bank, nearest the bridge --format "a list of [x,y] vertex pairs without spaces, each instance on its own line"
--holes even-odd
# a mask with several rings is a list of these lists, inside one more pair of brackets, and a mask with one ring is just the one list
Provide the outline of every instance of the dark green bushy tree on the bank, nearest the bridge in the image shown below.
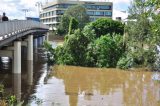
[[63,47],[56,48],[56,63],[85,66],[85,53],[89,43],[89,37],[85,36],[80,29],[75,30],[73,34],[66,36]]

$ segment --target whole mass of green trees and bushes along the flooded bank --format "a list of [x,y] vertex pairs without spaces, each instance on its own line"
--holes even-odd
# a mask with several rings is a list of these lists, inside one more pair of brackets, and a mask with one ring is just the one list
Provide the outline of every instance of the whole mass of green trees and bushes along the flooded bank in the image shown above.
[[63,46],[53,49],[46,43],[46,48],[56,64],[122,69],[159,67],[160,14],[155,13],[158,7],[155,0],[133,0],[126,25],[101,18],[79,27],[81,21],[70,15]]

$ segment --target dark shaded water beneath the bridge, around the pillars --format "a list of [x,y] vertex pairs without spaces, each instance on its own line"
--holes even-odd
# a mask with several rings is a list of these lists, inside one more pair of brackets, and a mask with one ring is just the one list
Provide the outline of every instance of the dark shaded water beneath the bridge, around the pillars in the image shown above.
[[[27,48],[22,47],[22,52]],[[15,95],[18,101],[27,105],[31,95],[36,92],[41,75],[47,71],[46,53],[43,48],[38,48],[34,53],[35,61],[27,61],[27,54],[22,55],[22,73],[12,73],[12,61],[8,57],[0,59],[0,84],[5,87],[6,96]]]

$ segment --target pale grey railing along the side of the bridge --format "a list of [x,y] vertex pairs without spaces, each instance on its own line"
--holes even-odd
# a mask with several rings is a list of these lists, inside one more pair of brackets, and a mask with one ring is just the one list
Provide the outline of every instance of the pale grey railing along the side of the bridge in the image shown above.
[[31,20],[14,20],[0,22],[0,40],[8,38],[16,33],[20,33],[29,29],[49,29],[48,26]]

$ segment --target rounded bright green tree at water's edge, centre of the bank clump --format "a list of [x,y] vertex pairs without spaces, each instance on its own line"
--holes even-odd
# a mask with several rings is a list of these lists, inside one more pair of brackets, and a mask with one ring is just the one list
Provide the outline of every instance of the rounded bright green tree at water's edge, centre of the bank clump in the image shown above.
[[108,34],[101,36],[88,45],[86,62],[92,67],[116,67],[123,55],[123,40],[121,35]]

